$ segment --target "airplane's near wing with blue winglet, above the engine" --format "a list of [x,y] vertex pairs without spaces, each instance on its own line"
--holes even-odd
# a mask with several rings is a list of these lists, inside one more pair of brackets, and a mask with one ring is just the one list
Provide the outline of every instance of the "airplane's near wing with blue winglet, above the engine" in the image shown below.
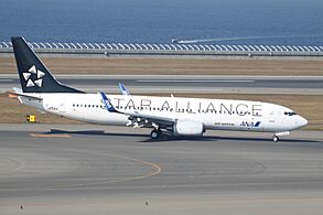
[[106,105],[106,109],[109,112],[118,112],[118,114],[123,114],[129,116],[129,121],[127,126],[133,126],[133,127],[169,127],[174,125],[176,119],[174,118],[169,118],[169,117],[163,117],[163,116],[155,116],[155,115],[149,115],[149,114],[142,114],[139,112],[138,110],[134,111],[122,111],[122,110],[117,110],[112,104],[110,103],[110,99],[107,98],[105,93],[100,92],[99,93],[103,97],[103,100]]

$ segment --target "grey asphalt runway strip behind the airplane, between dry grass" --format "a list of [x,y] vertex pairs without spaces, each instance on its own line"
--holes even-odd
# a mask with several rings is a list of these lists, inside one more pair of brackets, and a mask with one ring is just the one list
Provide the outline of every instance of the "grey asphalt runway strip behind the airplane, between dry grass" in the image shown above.
[[[119,92],[123,83],[133,93],[252,93],[323,94],[323,76],[158,76],[57,75],[68,86],[85,92]],[[0,75],[0,90],[20,87],[17,75]]]

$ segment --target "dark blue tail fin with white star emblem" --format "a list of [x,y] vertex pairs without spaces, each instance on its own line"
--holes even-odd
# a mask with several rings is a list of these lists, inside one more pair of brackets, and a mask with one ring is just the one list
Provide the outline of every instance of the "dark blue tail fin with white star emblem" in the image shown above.
[[23,37],[11,42],[23,93],[83,93],[57,82]]

